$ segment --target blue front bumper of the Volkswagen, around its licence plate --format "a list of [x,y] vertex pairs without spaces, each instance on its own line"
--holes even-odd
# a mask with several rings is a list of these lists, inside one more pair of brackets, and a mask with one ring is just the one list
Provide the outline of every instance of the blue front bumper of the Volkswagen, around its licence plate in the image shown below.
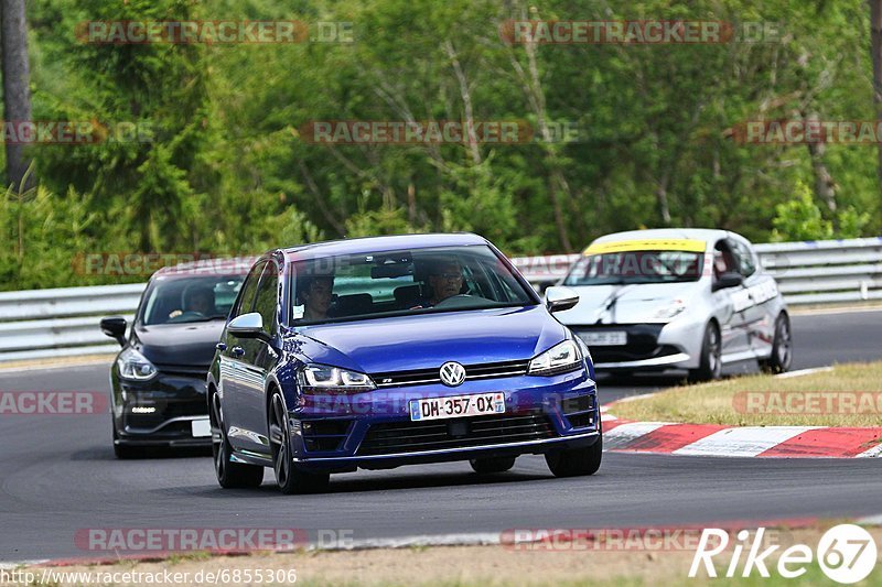
[[[410,420],[409,403],[417,399],[499,391],[505,394],[504,414]],[[293,460],[300,468],[343,471],[541,454],[590,446],[601,434],[596,389],[585,371],[359,395],[365,398],[306,402],[291,412]]]

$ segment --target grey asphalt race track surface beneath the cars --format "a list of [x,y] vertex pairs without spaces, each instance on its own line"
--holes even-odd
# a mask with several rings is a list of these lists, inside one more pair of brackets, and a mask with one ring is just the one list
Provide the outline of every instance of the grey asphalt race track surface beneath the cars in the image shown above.
[[[882,357],[882,312],[794,317],[795,369]],[[730,372],[751,370],[739,366]],[[676,380],[599,382],[609,402]],[[2,391],[107,391],[105,366],[0,371]],[[540,528],[656,528],[882,513],[882,459],[751,459],[607,453],[592,477],[553,478],[542,457],[478,477],[467,463],[332,477],[320,496],[223,490],[209,457],[116,460],[110,418],[0,416],[0,562],[105,557],[84,529],[303,529],[355,540]],[[112,556],[112,553],[109,553]]]

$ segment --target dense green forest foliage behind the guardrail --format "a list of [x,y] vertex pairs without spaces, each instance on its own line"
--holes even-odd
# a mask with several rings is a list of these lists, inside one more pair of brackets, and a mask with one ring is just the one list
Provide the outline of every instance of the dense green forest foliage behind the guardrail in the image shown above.
[[[734,132],[752,120],[874,119],[861,0],[34,0],[28,10],[34,118],[130,122],[142,134],[32,148],[41,187],[3,196],[0,289],[119,281],[71,270],[77,251],[245,254],[471,230],[536,254],[639,227],[712,226],[756,241],[882,231],[875,145],[813,153]],[[354,42],[101,45],[74,34],[88,20],[170,19],[299,20],[311,34],[345,21]],[[766,22],[781,36],[503,42],[504,22],[527,19]],[[314,121],[469,116],[528,124],[533,138],[329,145],[308,135]],[[578,133],[549,141],[544,124]],[[821,172],[836,213],[807,187]]]

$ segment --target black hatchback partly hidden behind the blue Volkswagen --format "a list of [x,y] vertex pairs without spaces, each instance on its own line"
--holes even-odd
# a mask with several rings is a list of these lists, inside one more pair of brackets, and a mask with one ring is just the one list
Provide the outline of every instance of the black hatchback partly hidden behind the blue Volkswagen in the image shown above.
[[122,346],[110,368],[118,458],[148,455],[149,447],[211,446],[205,377],[252,263],[163,268],[150,279],[131,328],[121,316],[101,319],[104,334]]

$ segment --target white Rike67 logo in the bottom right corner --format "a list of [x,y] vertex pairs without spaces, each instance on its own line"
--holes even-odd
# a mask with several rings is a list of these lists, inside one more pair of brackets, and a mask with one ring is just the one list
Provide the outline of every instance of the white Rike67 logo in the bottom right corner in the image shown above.
[[[836,583],[852,584],[867,578],[873,572],[876,562],[876,545],[867,530],[854,524],[840,524],[831,528],[818,541],[816,551],[805,544],[794,544],[777,555],[777,564],[772,566],[770,558],[781,548],[779,544],[761,551],[764,528],[760,528],[751,536],[751,532],[742,530],[736,534],[736,542],[731,550],[732,558],[725,567],[725,577],[739,574],[750,577],[753,573],[768,578],[768,568],[777,570],[781,577],[794,579],[806,574],[807,567],[817,559],[818,566],[827,577]],[[724,563],[722,555],[729,546],[729,533],[717,528],[706,528],[699,539],[689,577],[697,577],[703,566],[708,577],[717,577],[717,563]],[[746,551],[746,555],[744,552]],[[742,555],[744,562],[742,566]],[[718,557],[719,556],[719,557]],[[714,559],[714,557],[718,557]]]

